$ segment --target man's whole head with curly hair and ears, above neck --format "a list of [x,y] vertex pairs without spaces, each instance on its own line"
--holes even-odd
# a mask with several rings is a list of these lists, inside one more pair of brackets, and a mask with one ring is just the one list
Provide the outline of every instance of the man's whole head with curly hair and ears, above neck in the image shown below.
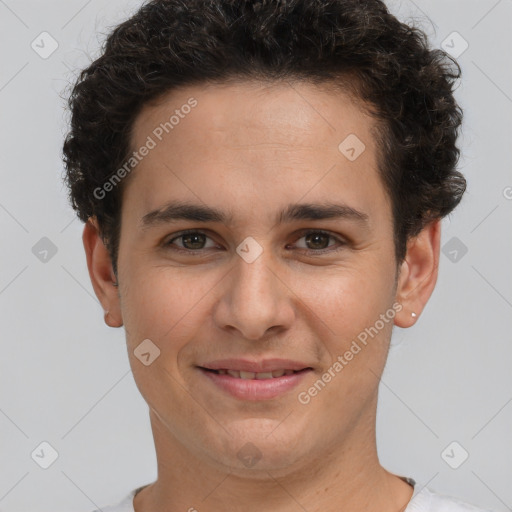
[[[162,431],[226,465],[252,440],[275,469],[371,430],[393,324],[430,297],[465,189],[459,73],[379,0],[154,0],[112,31],[70,97],[66,179]],[[233,398],[201,369],[230,357],[310,370]]]

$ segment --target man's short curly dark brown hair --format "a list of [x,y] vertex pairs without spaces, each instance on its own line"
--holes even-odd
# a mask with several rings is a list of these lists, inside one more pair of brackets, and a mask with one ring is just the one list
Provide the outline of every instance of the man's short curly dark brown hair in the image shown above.
[[231,80],[334,84],[376,120],[397,262],[407,240],[457,206],[461,70],[380,0],[152,0],[108,35],[69,97],[63,153],[79,218],[95,216],[117,275],[123,184],[94,190],[126,162],[142,107],[170,90]]

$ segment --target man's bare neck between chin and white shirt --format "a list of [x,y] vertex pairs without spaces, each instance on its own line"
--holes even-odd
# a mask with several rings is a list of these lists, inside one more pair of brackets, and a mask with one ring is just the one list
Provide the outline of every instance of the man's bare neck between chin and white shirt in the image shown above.
[[135,496],[135,512],[401,512],[413,493],[380,465],[374,415],[326,453],[316,451],[293,467],[257,470],[256,464],[245,471],[199,459],[150,417],[158,478]]

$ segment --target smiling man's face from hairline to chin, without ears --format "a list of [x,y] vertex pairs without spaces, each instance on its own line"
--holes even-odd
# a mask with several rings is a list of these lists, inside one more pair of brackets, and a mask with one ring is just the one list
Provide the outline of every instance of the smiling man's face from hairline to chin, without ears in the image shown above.
[[373,127],[307,84],[187,87],[138,116],[105,300],[169,443],[279,471],[372,435],[405,286]]

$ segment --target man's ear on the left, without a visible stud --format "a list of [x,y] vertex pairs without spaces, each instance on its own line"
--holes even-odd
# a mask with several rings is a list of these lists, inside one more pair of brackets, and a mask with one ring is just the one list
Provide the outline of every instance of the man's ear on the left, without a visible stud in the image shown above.
[[95,217],[90,217],[85,223],[82,241],[87,256],[87,268],[91,283],[96,297],[98,297],[105,311],[105,323],[110,327],[121,327],[123,318],[118,287],[114,286],[116,277],[112,260],[100,236],[98,222]]

